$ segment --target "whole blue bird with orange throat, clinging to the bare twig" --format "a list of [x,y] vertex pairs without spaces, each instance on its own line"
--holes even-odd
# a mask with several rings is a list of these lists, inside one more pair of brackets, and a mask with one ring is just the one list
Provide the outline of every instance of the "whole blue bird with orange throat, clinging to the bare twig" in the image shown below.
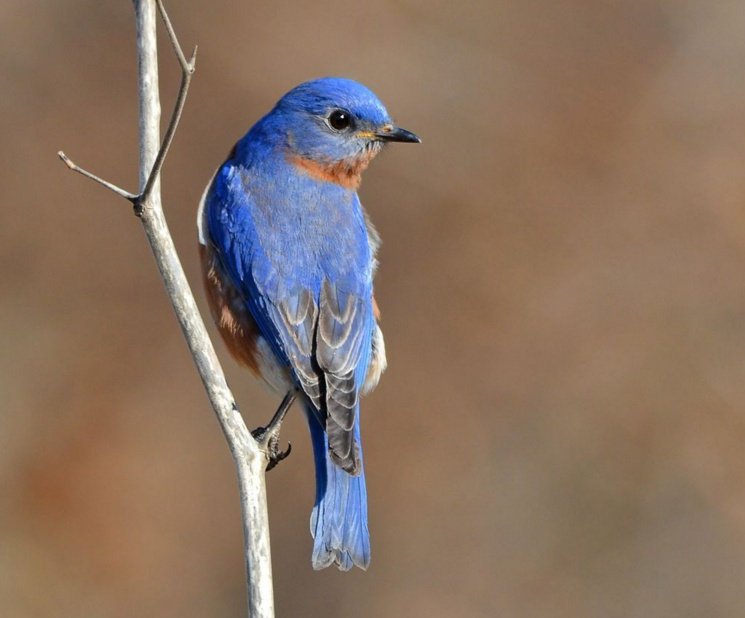
[[[304,82],[236,143],[207,184],[198,239],[210,312],[239,364],[284,399],[269,434],[302,401],[313,446],[314,569],[370,564],[360,396],[386,368],[373,295],[380,237],[357,190],[389,143],[421,139],[367,87]],[[257,434],[254,434],[257,435]]]

